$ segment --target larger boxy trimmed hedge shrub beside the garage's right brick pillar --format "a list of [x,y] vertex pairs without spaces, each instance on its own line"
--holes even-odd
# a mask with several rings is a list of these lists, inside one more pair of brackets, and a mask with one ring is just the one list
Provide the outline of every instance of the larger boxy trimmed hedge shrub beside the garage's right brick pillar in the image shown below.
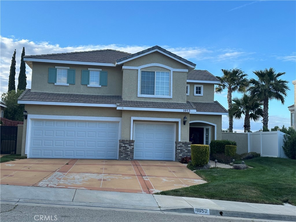
[[209,145],[191,144],[191,160],[194,166],[204,166],[209,162]]

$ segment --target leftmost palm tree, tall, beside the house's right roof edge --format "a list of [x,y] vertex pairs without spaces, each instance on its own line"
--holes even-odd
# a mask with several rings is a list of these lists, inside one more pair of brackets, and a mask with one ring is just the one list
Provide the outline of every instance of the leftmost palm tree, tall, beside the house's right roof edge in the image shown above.
[[[228,110],[232,106],[232,92],[244,93],[248,86],[247,74],[240,69],[226,70],[222,69],[223,76],[217,78],[220,80],[220,84],[215,89],[216,93],[221,93],[224,89],[227,89],[227,102]],[[233,116],[228,115],[229,118],[229,132],[233,130]]]

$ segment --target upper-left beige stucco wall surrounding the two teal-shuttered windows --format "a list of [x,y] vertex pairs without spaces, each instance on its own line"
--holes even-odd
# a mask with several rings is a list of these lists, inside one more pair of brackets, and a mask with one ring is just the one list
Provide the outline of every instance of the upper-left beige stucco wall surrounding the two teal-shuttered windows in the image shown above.
[[[69,86],[57,86],[54,85],[54,83],[48,83],[48,68],[54,68],[55,66],[64,66],[70,67],[70,69],[75,69],[75,84],[69,84]],[[108,85],[102,87],[88,87],[87,85],[81,85],[82,70],[87,70],[88,68],[96,68],[102,69],[103,71],[108,71]],[[31,90],[40,92],[121,95],[122,71],[120,66],[108,67],[33,62]]]

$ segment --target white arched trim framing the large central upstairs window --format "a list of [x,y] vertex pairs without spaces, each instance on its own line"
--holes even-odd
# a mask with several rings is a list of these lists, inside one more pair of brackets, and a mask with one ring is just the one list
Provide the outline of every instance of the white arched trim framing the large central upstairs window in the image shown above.
[[[158,66],[158,67],[162,67],[162,68],[165,68],[165,69],[170,70],[169,71],[170,72],[170,95],[169,96],[142,95],[141,94],[141,69],[147,68],[147,67],[151,67],[151,66]],[[175,71],[174,68],[169,67],[167,65],[160,64],[160,63],[150,63],[150,64],[141,65],[141,66],[137,66],[137,67],[133,67],[133,68],[138,70],[138,97],[168,98],[168,99],[172,99],[173,98],[173,71]],[[176,70],[179,71],[179,69],[176,69]],[[156,72],[156,71],[154,71],[154,72]]]

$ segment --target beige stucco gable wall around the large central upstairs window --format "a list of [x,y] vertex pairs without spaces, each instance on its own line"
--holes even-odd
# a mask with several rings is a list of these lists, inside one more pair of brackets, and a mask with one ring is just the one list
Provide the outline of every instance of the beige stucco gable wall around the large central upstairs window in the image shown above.
[[[159,52],[139,57],[137,59],[125,62],[125,66],[141,66],[150,63],[159,63],[176,69],[188,69],[188,67],[180,62],[177,62],[170,57],[167,57]],[[141,70],[146,71],[169,71],[163,67],[151,66]],[[173,71],[172,83],[172,98],[151,98],[138,97],[138,70],[123,69],[123,91],[122,97],[124,100],[140,100],[140,101],[164,101],[164,102],[186,102],[186,72]]]

